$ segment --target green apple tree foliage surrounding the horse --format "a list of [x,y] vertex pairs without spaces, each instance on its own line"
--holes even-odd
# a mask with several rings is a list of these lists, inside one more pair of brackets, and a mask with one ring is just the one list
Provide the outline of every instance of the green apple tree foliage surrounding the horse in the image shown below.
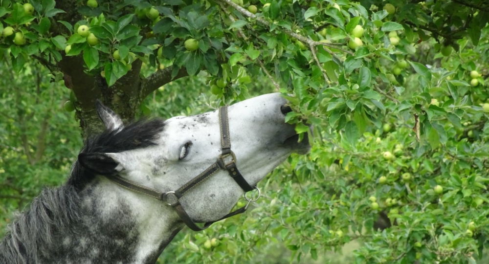
[[[68,10],[54,0],[30,1],[33,14],[21,2],[0,7],[1,27],[22,33],[0,40],[12,62],[4,67],[20,82],[1,91],[3,105],[14,106],[9,115],[59,105],[37,98],[63,101],[43,93],[61,94],[56,83],[29,96],[36,92],[28,56],[55,81],[63,79],[59,61],[82,56],[85,71],[102,74],[109,87],[139,61],[142,79],[165,67],[172,77],[181,69],[197,75],[150,93],[142,114],[202,112],[274,90],[289,100],[294,111],[286,120],[297,132],[311,133],[304,123],[313,125],[311,153],[292,155],[260,183],[265,195],[253,210],[205,232],[180,234],[161,261],[254,263],[273,256],[279,262],[275,251],[285,246],[290,262],[324,263],[326,251],[350,241],[359,242],[356,263],[475,263],[483,257],[489,233],[485,1],[126,0],[99,1],[95,8],[78,1],[84,19],[74,23],[56,19]],[[258,7],[256,15],[247,11],[250,5]],[[91,41],[78,32],[81,25],[89,26]],[[267,82],[271,87],[263,86]],[[23,107],[15,101],[19,90],[30,100]],[[22,131],[0,125],[13,140],[0,150],[8,154],[0,166],[25,174]],[[46,146],[59,145],[50,142]],[[67,161],[52,160],[74,156],[68,153],[74,146],[33,166],[45,176],[26,174],[29,185],[15,186],[30,190],[29,197],[41,183],[59,181],[49,175],[66,172]],[[206,248],[213,238],[216,244]]]

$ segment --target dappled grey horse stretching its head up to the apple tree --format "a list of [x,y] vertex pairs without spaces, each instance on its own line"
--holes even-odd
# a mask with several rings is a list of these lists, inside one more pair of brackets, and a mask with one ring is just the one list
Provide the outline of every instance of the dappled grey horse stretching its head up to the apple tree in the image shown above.
[[185,225],[244,212],[255,198],[229,213],[291,153],[310,150],[278,93],[127,125],[99,101],[96,110],[106,130],[85,140],[66,183],[9,224],[1,264],[156,263]]

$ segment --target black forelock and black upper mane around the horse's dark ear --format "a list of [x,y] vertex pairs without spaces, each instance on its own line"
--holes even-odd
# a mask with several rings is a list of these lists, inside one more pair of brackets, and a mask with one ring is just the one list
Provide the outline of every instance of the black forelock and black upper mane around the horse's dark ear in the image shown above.
[[[164,129],[162,119],[140,119],[120,131],[105,131],[85,140],[80,153],[118,153],[155,145],[155,140]],[[72,166],[67,185],[80,191],[95,174],[81,166],[78,160]]]

